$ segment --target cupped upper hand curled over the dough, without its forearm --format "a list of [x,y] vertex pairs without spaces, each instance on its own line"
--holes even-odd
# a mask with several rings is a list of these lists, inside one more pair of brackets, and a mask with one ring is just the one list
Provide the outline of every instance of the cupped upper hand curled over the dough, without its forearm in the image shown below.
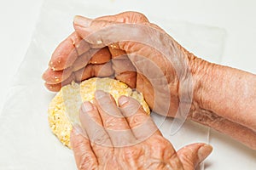
[[[123,23],[132,25],[126,31],[114,27]],[[137,29],[131,31],[132,26]],[[172,37],[135,12],[96,20],[76,16],[74,28],[75,32],[55,49],[44,72],[49,90],[58,91],[73,80],[113,76],[143,93],[153,111],[175,116],[184,90],[181,87],[189,84],[189,53]],[[125,41],[126,35],[137,39]]]

